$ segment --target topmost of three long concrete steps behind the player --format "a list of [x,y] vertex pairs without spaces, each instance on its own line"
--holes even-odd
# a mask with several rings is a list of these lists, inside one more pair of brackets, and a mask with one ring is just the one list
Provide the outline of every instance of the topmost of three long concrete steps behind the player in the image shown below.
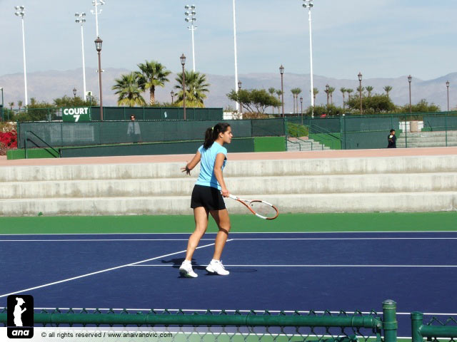
[[[54,165],[2,167],[0,182],[59,180],[149,180],[182,178],[185,162],[147,164]],[[228,160],[224,177],[364,175],[456,172],[457,155],[424,157],[354,157],[302,160]],[[199,167],[192,170],[199,174]]]

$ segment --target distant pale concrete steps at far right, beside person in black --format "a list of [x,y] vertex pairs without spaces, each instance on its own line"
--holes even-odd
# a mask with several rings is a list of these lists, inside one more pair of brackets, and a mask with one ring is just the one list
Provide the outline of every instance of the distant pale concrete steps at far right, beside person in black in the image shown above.
[[435,132],[417,132],[401,133],[397,137],[397,147],[406,147],[408,142],[408,148],[410,147],[443,147],[446,146],[457,146],[457,131],[448,130],[435,131]]

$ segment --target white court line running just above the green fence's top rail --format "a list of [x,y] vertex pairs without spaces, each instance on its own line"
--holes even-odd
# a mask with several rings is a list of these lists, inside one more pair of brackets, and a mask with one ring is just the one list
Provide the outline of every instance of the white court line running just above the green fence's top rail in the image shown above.
[[[0,309],[6,309],[5,306],[0,306]],[[55,310],[56,308],[34,308],[35,310]],[[124,311],[124,309],[102,309],[102,308],[60,308],[59,307],[59,310],[100,310],[100,311],[110,311],[110,310],[113,310],[113,311]],[[125,309],[126,311],[143,311],[143,313],[147,313],[149,312],[149,310],[151,310],[150,308],[143,308],[143,309]],[[168,310],[168,311],[184,311],[184,312],[206,312],[207,310],[206,309],[154,309],[154,311],[165,311],[165,310]],[[209,311],[211,312],[221,312],[222,310],[221,309],[209,309]],[[238,311],[238,312],[251,312],[251,310],[233,310],[233,309],[229,309],[229,310],[224,310],[225,312],[235,312],[235,311]],[[256,313],[263,313],[265,312],[266,310],[253,310],[255,311]],[[355,314],[354,311],[346,311],[346,310],[343,310],[344,312],[346,312],[346,314]],[[271,312],[272,314],[279,314],[281,312],[285,313],[285,314],[293,314],[295,313],[296,311],[294,310],[268,310],[268,312]],[[309,310],[306,311],[306,310],[298,310],[297,311],[299,314],[308,314],[309,313]],[[323,314],[324,312],[327,312],[327,311],[315,311],[313,310],[313,312],[315,312],[316,314]],[[339,314],[340,311],[328,311],[330,312],[331,314]],[[361,311],[361,314],[363,315],[369,315],[371,314],[371,311]],[[378,314],[382,314],[382,311],[379,311]],[[411,315],[411,312],[397,312],[396,313],[397,315]],[[438,313],[431,313],[431,312],[424,312],[423,313],[424,316],[457,316],[457,313],[456,314],[438,314]]]

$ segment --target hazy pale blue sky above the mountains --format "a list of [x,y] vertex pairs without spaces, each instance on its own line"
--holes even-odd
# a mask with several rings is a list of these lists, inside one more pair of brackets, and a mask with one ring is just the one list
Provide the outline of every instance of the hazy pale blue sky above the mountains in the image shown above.
[[[238,73],[309,73],[308,11],[301,0],[236,0]],[[99,16],[102,68],[134,70],[154,59],[171,71],[185,53],[191,68],[191,33],[184,5],[195,4],[196,68],[232,75],[231,0],[106,0]],[[0,75],[23,72],[21,21],[26,6],[27,71],[81,68],[76,11],[86,12],[86,66],[96,67],[91,0],[0,0]],[[411,74],[431,79],[457,71],[456,0],[315,0],[313,60],[316,75],[356,79]]]

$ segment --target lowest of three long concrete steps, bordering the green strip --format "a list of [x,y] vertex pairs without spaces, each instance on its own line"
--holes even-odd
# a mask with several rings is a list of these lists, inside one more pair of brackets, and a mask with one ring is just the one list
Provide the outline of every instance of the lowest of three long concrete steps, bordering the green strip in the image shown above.
[[[243,194],[240,194],[243,196]],[[247,195],[246,195],[247,197]],[[279,212],[431,212],[456,210],[456,192],[394,192],[362,194],[250,195],[261,197],[278,207]],[[226,199],[233,214],[248,210],[233,199]],[[1,201],[2,216],[54,215],[129,215],[192,214],[190,198],[180,197],[97,197],[13,199]]]

